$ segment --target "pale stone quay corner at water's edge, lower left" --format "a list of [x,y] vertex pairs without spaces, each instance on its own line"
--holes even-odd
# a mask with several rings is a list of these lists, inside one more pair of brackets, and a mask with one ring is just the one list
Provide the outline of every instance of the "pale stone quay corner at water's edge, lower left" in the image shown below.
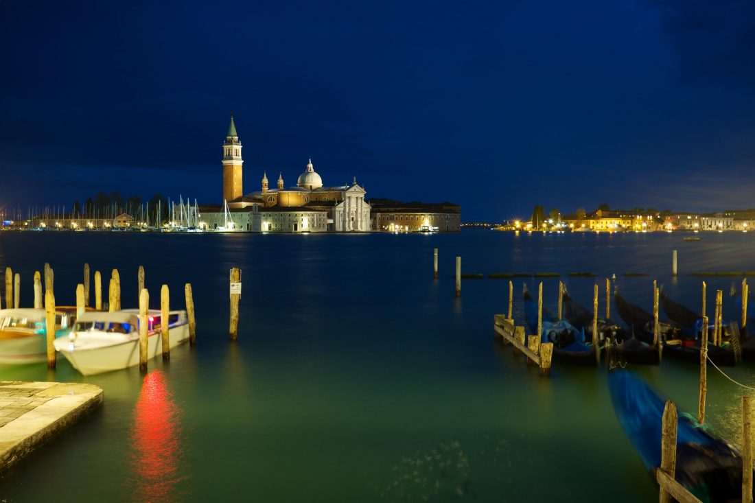
[[0,381],[0,470],[102,401],[94,384]]

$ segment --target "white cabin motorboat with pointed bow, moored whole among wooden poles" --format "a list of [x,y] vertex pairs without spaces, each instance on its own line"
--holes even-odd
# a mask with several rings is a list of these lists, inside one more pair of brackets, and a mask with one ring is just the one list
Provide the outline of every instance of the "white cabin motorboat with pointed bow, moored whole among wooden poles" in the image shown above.
[[[161,313],[149,310],[147,358],[162,354]],[[189,338],[186,311],[170,311],[171,348]],[[83,375],[127,369],[139,363],[139,310],[84,313],[69,336],[57,339],[55,349]]]

